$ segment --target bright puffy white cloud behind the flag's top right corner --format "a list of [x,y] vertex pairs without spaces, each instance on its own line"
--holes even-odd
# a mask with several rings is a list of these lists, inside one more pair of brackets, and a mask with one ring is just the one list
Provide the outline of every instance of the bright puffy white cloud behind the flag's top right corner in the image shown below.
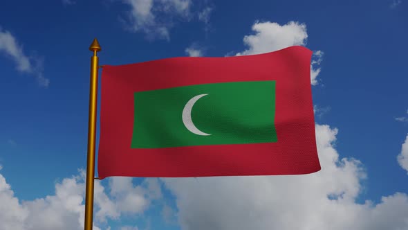
[[[248,49],[239,52],[236,55],[252,55],[258,53],[268,53],[278,51],[288,46],[305,46],[308,38],[306,24],[299,24],[297,21],[289,21],[283,26],[276,22],[255,22],[252,26],[254,35],[246,35],[243,42]],[[322,51],[313,53],[314,60],[310,66],[310,82],[317,85],[317,76],[320,68],[317,66],[322,62]]]

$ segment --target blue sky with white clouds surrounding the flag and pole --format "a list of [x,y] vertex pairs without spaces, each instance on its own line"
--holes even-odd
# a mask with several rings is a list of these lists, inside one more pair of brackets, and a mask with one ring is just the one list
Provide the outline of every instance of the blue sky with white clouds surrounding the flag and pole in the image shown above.
[[306,46],[322,170],[96,180],[94,229],[408,229],[407,4],[2,1],[0,229],[83,229],[95,37],[111,65]]

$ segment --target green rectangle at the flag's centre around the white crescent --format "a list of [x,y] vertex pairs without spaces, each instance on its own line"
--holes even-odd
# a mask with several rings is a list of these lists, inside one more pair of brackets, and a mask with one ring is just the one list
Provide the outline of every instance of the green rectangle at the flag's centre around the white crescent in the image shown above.
[[[134,100],[131,148],[277,141],[272,80],[140,91]],[[192,105],[191,116],[187,109],[183,118],[187,103]]]

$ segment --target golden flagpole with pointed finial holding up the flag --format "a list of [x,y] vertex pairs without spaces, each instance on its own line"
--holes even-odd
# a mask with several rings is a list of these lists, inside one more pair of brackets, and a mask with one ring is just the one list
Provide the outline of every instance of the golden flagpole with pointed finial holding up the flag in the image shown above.
[[96,103],[98,95],[98,57],[101,50],[98,39],[93,39],[89,50],[91,57],[91,86],[89,91],[89,120],[88,120],[88,159],[86,164],[85,191],[85,230],[92,230],[93,225],[93,179],[95,176],[95,136],[96,136]]

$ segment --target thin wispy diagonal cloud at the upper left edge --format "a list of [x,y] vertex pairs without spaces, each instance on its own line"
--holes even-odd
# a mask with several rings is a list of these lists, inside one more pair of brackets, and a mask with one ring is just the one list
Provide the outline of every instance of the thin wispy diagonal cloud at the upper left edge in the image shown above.
[[0,53],[5,53],[15,62],[17,71],[35,75],[39,85],[48,87],[50,81],[44,78],[41,60],[25,55],[22,46],[17,43],[17,39],[9,31],[3,30],[1,27]]

